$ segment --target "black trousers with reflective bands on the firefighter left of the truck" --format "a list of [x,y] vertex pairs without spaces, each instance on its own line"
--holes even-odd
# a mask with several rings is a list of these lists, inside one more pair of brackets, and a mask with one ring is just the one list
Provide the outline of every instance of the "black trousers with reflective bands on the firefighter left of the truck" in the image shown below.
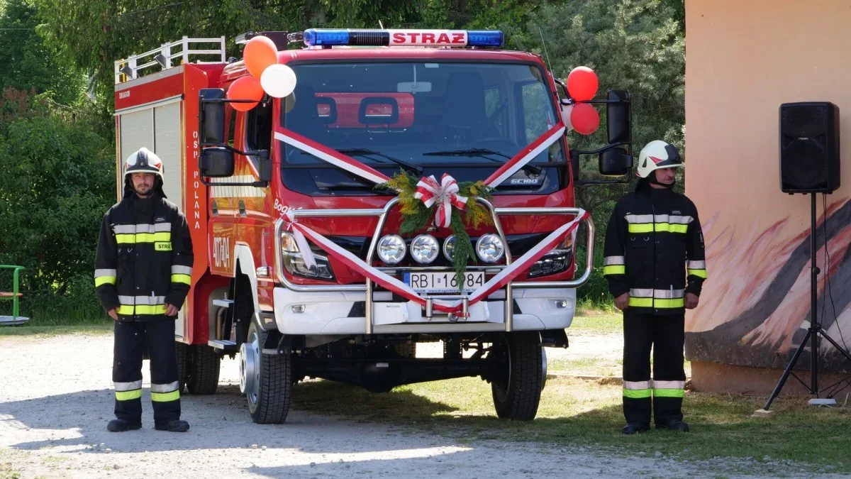
[[115,416],[131,424],[142,419],[142,349],[151,358],[151,404],[155,424],[180,418],[180,390],[174,357],[174,320],[116,321],[112,360]]

